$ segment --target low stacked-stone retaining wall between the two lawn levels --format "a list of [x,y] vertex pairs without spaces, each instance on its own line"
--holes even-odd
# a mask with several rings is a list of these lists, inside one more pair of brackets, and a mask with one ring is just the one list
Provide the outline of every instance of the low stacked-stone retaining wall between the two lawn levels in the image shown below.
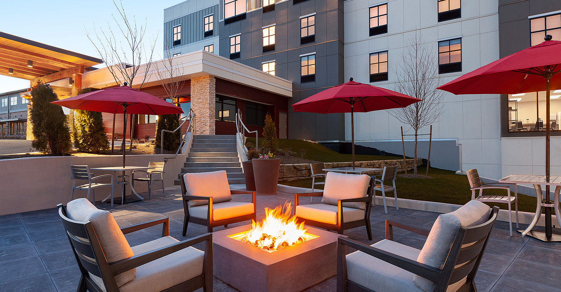
[[[407,159],[407,170],[413,169],[413,159]],[[356,167],[364,168],[384,168],[384,166],[399,165],[399,172],[404,171],[403,159],[399,160],[375,160],[375,161],[356,161]],[[422,165],[422,159],[417,159],[417,166]],[[352,162],[324,163],[325,168],[352,166]],[[311,175],[310,164],[281,164],[279,170],[279,180],[296,180],[309,178]]]

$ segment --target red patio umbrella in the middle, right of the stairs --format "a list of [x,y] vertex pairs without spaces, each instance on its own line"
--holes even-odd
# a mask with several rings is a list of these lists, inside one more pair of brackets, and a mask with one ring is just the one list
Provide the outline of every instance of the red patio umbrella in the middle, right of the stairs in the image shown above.
[[421,101],[389,89],[353,81],[333,86],[292,105],[295,112],[351,113],[352,167],[355,169],[355,112],[404,108]]

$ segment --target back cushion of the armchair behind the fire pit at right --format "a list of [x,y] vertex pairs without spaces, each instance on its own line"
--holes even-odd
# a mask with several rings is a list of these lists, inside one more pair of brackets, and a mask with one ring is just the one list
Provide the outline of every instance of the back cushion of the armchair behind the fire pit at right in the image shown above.
[[[328,172],[325,175],[325,187],[323,188],[324,204],[337,206],[338,200],[351,198],[364,198],[368,196],[368,185],[370,177],[366,174],[343,174]],[[365,202],[343,203],[345,207],[366,209]]]

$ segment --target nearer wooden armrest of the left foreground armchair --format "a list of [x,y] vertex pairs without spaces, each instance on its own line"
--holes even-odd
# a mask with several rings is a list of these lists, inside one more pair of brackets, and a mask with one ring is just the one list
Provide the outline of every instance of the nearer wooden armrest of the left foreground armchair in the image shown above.
[[[121,259],[120,261],[111,262],[109,263],[109,268],[111,268],[114,275],[121,274],[122,272],[131,270],[132,268],[145,265],[146,263],[154,261],[158,258],[162,258],[164,256],[167,256],[168,254],[181,251],[181,249],[185,249],[187,247],[190,247],[191,245],[204,241],[212,242],[212,233],[199,235],[198,237],[183,240],[182,242],[173,243],[166,247],[154,249],[153,251],[137,254],[136,256]],[[205,251],[205,253],[207,252],[209,251]]]

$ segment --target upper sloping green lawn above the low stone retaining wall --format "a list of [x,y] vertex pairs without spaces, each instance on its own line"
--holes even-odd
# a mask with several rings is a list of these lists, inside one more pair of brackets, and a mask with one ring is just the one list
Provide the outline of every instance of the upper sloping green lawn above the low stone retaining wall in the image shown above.
[[[296,156],[300,157],[300,149],[305,149],[305,159],[316,160],[321,162],[347,162],[352,161],[351,154],[341,154],[326,148],[318,143],[312,143],[304,140],[295,139],[277,139],[279,149],[290,148],[296,152]],[[247,138],[246,143],[255,145],[255,138]],[[373,161],[373,160],[388,160],[399,159],[394,156],[381,156],[381,155],[355,155],[355,161]]]

